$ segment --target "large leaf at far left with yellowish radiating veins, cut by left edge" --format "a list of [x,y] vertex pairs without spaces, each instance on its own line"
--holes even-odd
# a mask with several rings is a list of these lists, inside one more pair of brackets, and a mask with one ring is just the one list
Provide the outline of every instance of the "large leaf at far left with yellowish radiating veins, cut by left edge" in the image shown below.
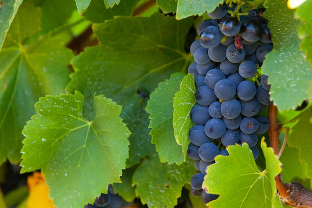
[[40,8],[23,3],[0,53],[0,163],[6,157],[20,161],[21,131],[35,112],[34,103],[63,92],[69,82],[70,50],[48,37],[28,41],[40,30],[40,16]]

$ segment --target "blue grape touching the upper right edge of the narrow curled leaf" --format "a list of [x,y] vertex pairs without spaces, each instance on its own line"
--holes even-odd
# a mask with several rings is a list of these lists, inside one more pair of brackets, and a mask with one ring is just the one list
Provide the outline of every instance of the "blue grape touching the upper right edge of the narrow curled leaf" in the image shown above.
[[[209,72],[208,72],[209,73]],[[206,80],[207,83],[207,80]],[[208,106],[212,102],[217,101],[218,98],[214,94],[214,90],[207,85],[199,87],[195,92],[195,100],[200,105]]]

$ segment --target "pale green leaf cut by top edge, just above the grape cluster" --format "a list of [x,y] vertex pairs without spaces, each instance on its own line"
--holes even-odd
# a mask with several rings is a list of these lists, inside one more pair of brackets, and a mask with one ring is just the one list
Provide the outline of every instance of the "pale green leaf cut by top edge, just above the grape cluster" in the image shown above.
[[202,15],[206,10],[213,11],[223,0],[178,0],[176,18],[182,19],[192,15]]

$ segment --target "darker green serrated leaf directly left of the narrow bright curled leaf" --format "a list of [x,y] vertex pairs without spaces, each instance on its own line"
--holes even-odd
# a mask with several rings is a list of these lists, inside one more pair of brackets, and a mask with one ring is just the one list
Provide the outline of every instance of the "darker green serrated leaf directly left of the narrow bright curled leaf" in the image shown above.
[[184,76],[183,73],[174,73],[169,80],[160,82],[146,106],[146,111],[151,114],[149,127],[152,128],[152,143],[156,145],[162,163],[181,164],[185,160],[181,146],[175,141],[172,125],[173,97]]

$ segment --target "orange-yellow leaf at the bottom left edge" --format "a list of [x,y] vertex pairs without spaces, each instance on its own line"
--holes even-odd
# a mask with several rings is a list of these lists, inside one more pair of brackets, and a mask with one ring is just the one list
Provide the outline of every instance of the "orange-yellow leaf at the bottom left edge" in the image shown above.
[[53,206],[53,199],[49,199],[49,188],[45,184],[43,174],[34,172],[32,176],[28,176],[27,185],[29,188],[27,208],[56,208]]

